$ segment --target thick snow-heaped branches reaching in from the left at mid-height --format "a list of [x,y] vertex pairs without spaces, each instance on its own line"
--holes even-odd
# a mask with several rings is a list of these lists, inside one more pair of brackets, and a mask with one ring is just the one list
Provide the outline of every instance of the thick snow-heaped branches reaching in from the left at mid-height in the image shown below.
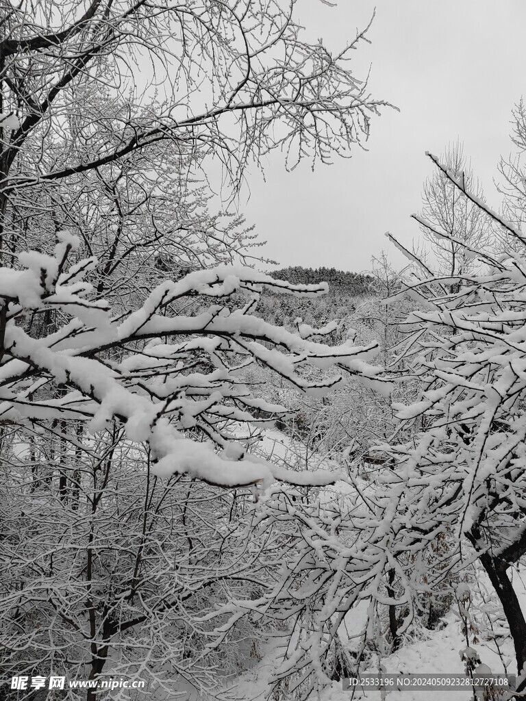
[[[77,244],[61,232],[54,255],[32,251],[18,256],[22,269],[0,268],[0,420],[76,418],[92,433],[119,421],[129,440],[149,444],[158,475],[187,472],[223,486],[336,479],[323,470],[278,468],[251,455],[241,440],[233,450],[229,430],[287,411],[252,395],[243,372],[255,362],[313,395],[339,386],[342,372],[389,392],[382,369],[370,365],[377,344],[326,346],[248,313],[264,287],[313,295],[325,286],[292,285],[243,266],[222,266],[167,280],[127,318],[114,317],[106,302],[90,299],[83,280],[93,259],[65,271]],[[255,303],[245,304],[247,296]],[[184,315],[181,302],[196,298],[198,311]],[[52,331],[32,334],[29,311],[32,317],[53,315]],[[321,368],[322,379],[318,373],[310,380],[309,366]]]

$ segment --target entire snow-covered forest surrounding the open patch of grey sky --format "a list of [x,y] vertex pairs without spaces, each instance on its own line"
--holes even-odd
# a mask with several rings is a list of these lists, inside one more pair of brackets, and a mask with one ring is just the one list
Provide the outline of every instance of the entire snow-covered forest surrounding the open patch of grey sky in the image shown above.
[[452,143],[418,245],[271,266],[224,203],[374,141],[369,27],[0,8],[0,701],[525,697],[526,105],[501,205]]

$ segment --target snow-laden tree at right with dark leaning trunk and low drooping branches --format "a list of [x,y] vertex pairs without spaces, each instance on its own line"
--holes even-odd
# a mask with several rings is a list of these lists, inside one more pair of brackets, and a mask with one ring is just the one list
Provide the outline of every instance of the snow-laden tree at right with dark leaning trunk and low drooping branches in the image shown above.
[[[518,691],[526,688],[526,622],[512,582],[526,553],[526,237],[430,157],[509,245],[499,253],[496,241],[487,247],[455,238],[461,258],[473,265],[433,274],[390,236],[414,266],[390,303],[409,295],[414,304],[396,355],[417,383],[416,401],[393,404],[398,426],[377,443],[384,459],[374,479],[350,470],[335,491],[300,487],[269,495],[259,524],[287,523],[295,560],[283,563],[260,601],[222,609],[232,616],[256,610],[278,625],[286,599],[294,633],[284,636],[274,671],[277,693],[295,689],[306,699],[360,665],[376,664],[419,621],[433,625],[429,597],[461,602],[464,658],[476,660],[466,613],[476,597],[474,561],[506,617]],[[345,616],[363,606],[363,629],[343,648]]]

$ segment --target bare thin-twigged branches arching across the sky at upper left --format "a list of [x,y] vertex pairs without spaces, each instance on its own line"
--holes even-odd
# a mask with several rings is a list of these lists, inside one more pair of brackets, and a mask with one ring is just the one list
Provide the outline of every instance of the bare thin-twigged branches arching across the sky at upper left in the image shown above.
[[152,144],[170,144],[183,160],[213,156],[238,186],[250,156],[280,148],[291,166],[309,153],[328,161],[366,137],[370,113],[384,103],[346,64],[365,32],[332,55],[302,41],[293,8],[275,0],[3,0],[4,244],[15,191]]

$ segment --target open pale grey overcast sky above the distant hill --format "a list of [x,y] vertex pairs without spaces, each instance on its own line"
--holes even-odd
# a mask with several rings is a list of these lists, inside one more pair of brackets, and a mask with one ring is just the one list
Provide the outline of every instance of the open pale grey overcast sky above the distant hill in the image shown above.
[[[333,0],[334,1],[334,0]],[[419,237],[410,215],[432,173],[425,151],[440,154],[459,139],[488,202],[501,154],[513,150],[511,109],[526,97],[524,0],[298,0],[309,38],[340,48],[356,36],[376,6],[369,39],[356,52],[356,76],[371,64],[370,91],[400,109],[372,123],[368,151],[332,166],[305,164],[292,173],[283,158],[269,161],[266,179],[252,170],[240,209],[268,241],[264,254],[281,265],[370,268],[382,248],[396,266],[401,255],[384,238],[405,245]]]

